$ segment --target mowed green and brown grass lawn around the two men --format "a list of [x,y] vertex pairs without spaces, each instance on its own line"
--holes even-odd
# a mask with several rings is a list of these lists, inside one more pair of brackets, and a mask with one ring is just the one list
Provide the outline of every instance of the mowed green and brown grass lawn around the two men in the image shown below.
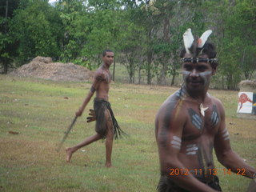
[[[89,103],[62,149],[64,132],[90,90],[90,82],[52,82],[0,75],[0,191],[155,191],[159,178],[154,117],[178,87],[113,83],[110,102],[129,138],[114,141],[114,168],[106,169],[105,143],[78,150],[66,163],[66,146],[94,134]],[[256,166],[256,121],[236,117],[238,91],[210,90],[226,109],[233,149]],[[250,179],[215,165],[223,191],[246,191]]]

